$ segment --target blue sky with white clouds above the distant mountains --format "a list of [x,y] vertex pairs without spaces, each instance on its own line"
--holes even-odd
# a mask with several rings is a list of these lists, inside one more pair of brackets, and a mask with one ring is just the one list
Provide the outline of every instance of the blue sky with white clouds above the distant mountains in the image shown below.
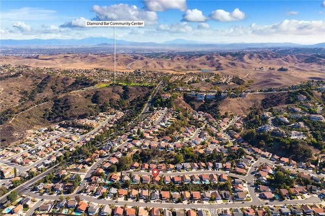
[[118,27],[116,38],[161,43],[325,42],[325,1],[1,1],[1,39],[113,38],[111,27],[87,20],[144,20]]

